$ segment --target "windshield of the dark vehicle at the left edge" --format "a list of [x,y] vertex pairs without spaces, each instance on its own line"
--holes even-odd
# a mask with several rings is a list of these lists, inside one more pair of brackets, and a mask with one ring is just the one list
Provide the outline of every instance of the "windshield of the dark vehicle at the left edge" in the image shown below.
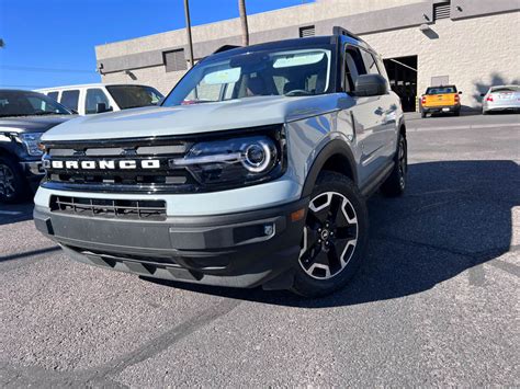
[[71,115],[71,113],[42,93],[0,91],[0,117],[34,115]]

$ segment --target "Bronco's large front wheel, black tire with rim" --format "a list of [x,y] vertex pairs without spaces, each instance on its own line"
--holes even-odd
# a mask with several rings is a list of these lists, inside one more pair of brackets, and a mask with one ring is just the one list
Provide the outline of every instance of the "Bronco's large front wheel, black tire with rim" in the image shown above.
[[342,174],[321,172],[310,197],[292,291],[323,297],[358,271],[369,238],[365,199]]

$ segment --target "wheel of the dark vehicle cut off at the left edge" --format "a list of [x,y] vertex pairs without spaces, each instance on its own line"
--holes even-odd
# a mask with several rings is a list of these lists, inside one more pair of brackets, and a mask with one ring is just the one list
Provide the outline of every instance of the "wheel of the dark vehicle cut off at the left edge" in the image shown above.
[[0,203],[19,203],[27,198],[29,185],[18,163],[0,157]]

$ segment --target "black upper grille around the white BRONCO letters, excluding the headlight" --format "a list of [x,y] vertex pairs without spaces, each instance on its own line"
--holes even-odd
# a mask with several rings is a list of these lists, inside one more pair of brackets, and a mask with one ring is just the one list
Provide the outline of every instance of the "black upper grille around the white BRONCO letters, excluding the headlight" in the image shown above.
[[[102,142],[77,142],[74,145],[53,145],[44,157],[46,178],[44,186],[63,190],[84,190],[100,192],[172,193],[197,192],[197,181],[185,169],[172,167],[170,161],[183,158],[192,142],[173,141],[157,145],[149,141],[125,141],[103,145]],[[45,159],[53,161],[75,161],[92,163],[93,169],[54,169],[45,165]],[[157,161],[158,167],[144,169],[143,161]],[[112,169],[100,169],[100,163],[115,163]],[[136,164],[136,169],[118,169],[120,162]]]

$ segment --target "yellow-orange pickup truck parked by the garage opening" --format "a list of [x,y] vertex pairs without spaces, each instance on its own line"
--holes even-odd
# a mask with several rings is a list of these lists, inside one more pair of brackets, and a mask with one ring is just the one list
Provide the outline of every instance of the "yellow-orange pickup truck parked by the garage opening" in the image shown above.
[[450,113],[455,116],[461,114],[461,94],[455,85],[430,87],[421,96],[420,113],[426,117],[431,113]]

